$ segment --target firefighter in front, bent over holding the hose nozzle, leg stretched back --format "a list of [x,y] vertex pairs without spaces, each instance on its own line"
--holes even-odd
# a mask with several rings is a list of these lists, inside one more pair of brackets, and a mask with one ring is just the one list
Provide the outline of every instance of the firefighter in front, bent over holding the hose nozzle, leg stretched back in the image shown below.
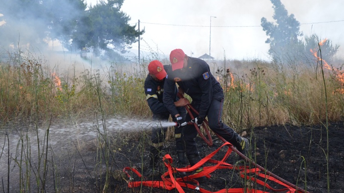
[[[172,68],[167,71],[168,81],[165,81],[164,85],[163,102],[174,121],[180,125],[192,122],[201,126],[207,116],[209,128],[245,154],[245,150],[248,149],[248,140],[222,122],[223,89],[210,72],[209,65],[204,60],[185,55],[182,49],[172,50],[170,61]],[[195,118],[192,120],[189,114],[184,119],[173,104],[175,83],[178,83],[179,87],[192,98],[191,105],[199,113],[198,115],[193,113]],[[190,165],[193,166],[201,160],[195,141],[197,131],[193,124],[185,126],[183,136],[186,156]],[[196,172],[202,170],[201,167]],[[198,180],[205,181],[205,177]]]

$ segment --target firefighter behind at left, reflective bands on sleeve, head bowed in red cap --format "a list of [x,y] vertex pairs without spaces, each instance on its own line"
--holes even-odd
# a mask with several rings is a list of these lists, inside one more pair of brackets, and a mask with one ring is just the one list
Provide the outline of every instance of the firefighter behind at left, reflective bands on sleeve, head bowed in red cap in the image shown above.
[[[168,121],[170,117],[170,112],[163,104],[163,92],[164,92],[164,82],[166,77],[165,69],[169,69],[171,66],[162,65],[162,63],[158,60],[153,60],[148,65],[149,74],[144,81],[144,93],[146,94],[146,100],[150,110],[153,113],[153,121]],[[185,105],[190,104],[189,100],[187,99],[178,99],[177,92],[178,89],[176,85],[171,86],[171,96],[172,103],[181,115],[181,117],[185,118],[186,116],[186,109]],[[159,154],[163,147],[163,142],[165,139],[167,127],[161,127],[158,124],[153,125],[152,128],[152,136],[151,136],[151,146],[150,146],[150,153],[149,153],[149,167],[147,170],[146,176],[152,177],[154,171],[156,170],[157,163],[159,161]],[[182,139],[182,127],[176,127],[174,129],[174,137],[176,143],[176,151],[178,156],[177,166],[178,167],[185,167],[186,166],[186,158],[185,158],[185,150],[184,150],[184,141]]]

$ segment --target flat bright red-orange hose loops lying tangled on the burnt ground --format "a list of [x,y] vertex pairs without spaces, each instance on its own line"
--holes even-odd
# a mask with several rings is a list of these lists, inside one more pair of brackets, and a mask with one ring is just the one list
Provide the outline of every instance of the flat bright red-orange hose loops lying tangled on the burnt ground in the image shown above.
[[[222,189],[222,190],[219,190],[217,192],[210,192],[210,191],[207,191],[205,189],[200,188],[198,181],[195,180],[195,178],[199,178],[202,176],[210,178],[210,173],[212,173],[213,171],[215,171],[217,169],[231,169],[231,170],[236,169],[236,170],[240,171],[240,177],[241,178],[243,178],[243,179],[246,178],[247,180],[251,180],[252,182],[256,182],[257,184],[265,186],[269,190],[272,190],[275,192],[288,191],[286,193],[295,193],[296,190],[293,189],[291,186],[279,181],[276,178],[273,178],[269,175],[266,175],[265,173],[261,173],[261,170],[259,168],[249,169],[248,166],[246,166],[246,167],[244,167],[244,166],[233,166],[232,164],[226,163],[225,162],[226,159],[228,158],[228,156],[232,152],[232,149],[230,147],[228,147],[228,150],[227,150],[225,156],[223,157],[223,159],[221,161],[211,159],[222,147],[224,147],[226,145],[232,146],[232,144],[226,142],[221,147],[216,149],[214,152],[207,155],[201,161],[196,163],[194,166],[192,166],[192,167],[188,166],[187,168],[173,168],[171,166],[172,158],[170,155],[166,154],[163,158],[163,161],[164,161],[165,166],[168,168],[168,171],[161,175],[161,179],[162,179],[161,181],[144,181],[144,180],[143,181],[128,181],[128,187],[133,188],[133,187],[138,187],[140,185],[144,185],[144,186],[148,186],[148,187],[161,188],[161,189],[166,189],[166,190],[177,189],[177,191],[180,193],[184,193],[184,190],[182,187],[189,188],[189,189],[196,189],[196,190],[199,190],[201,193],[226,193],[226,192],[227,193],[244,193],[244,192],[245,193],[267,193],[267,192],[261,191],[261,190],[256,190],[256,189],[246,189],[245,190],[243,188],[230,188],[230,189]],[[175,178],[175,176],[173,175],[177,171],[178,172],[190,172],[190,171],[196,170],[197,168],[203,166],[203,164],[206,162],[214,163],[215,165],[214,166],[205,166],[205,167],[203,167],[203,171],[201,171],[197,174],[185,176],[183,178]],[[133,178],[129,175],[129,173],[128,173],[129,170],[131,170],[133,173],[138,175],[139,178],[142,179],[142,175],[135,168],[125,167],[123,169],[123,172],[125,172],[127,174],[127,176],[129,177],[130,180],[133,180]],[[286,188],[273,189],[268,183],[250,176],[249,175],[250,173],[252,174],[252,176],[259,176],[261,178],[265,178],[267,180],[276,182],[276,183],[278,183],[278,184],[280,184]],[[188,182],[192,182],[192,184],[188,183]],[[196,185],[194,185],[194,184],[196,184]]]

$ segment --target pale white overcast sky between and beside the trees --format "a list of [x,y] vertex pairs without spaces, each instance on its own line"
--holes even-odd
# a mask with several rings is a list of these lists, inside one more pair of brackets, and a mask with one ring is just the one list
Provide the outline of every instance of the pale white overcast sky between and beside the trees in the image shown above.
[[[86,0],[95,4],[97,0]],[[340,45],[337,57],[344,56],[343,0],[281,0],[288,14],[301,23],[304,35],[317,34]],[[223,59],[267,59],[269,45],[260,26],[262,17],[273,21],[270,0],[125,0],[122,11],[140,20],[145,28],[141,50],[159,49],[166,55],[181,48],[194,57],[209,54],[211,18],[211,55]],[[335,22],[340,21],[340,22]],[[323,22],[323,23],[319,23]],[[313,24],[306,24],[313,23]],[[247,26],[247,27],[244,27]],[[133,45],[138,49],[138,43]]]

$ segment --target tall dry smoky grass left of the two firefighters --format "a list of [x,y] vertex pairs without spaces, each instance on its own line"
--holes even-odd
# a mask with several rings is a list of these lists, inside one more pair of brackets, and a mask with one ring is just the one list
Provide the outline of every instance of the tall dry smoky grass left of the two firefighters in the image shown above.
[[[0,117],[2,122],[70,118],[99,111],[107,114],[147,116],[143,79],[116,64],[101,69],[59,72],[31,53],[13,55],[0,62]],[[100,92],[97,92],[100,87]]]

